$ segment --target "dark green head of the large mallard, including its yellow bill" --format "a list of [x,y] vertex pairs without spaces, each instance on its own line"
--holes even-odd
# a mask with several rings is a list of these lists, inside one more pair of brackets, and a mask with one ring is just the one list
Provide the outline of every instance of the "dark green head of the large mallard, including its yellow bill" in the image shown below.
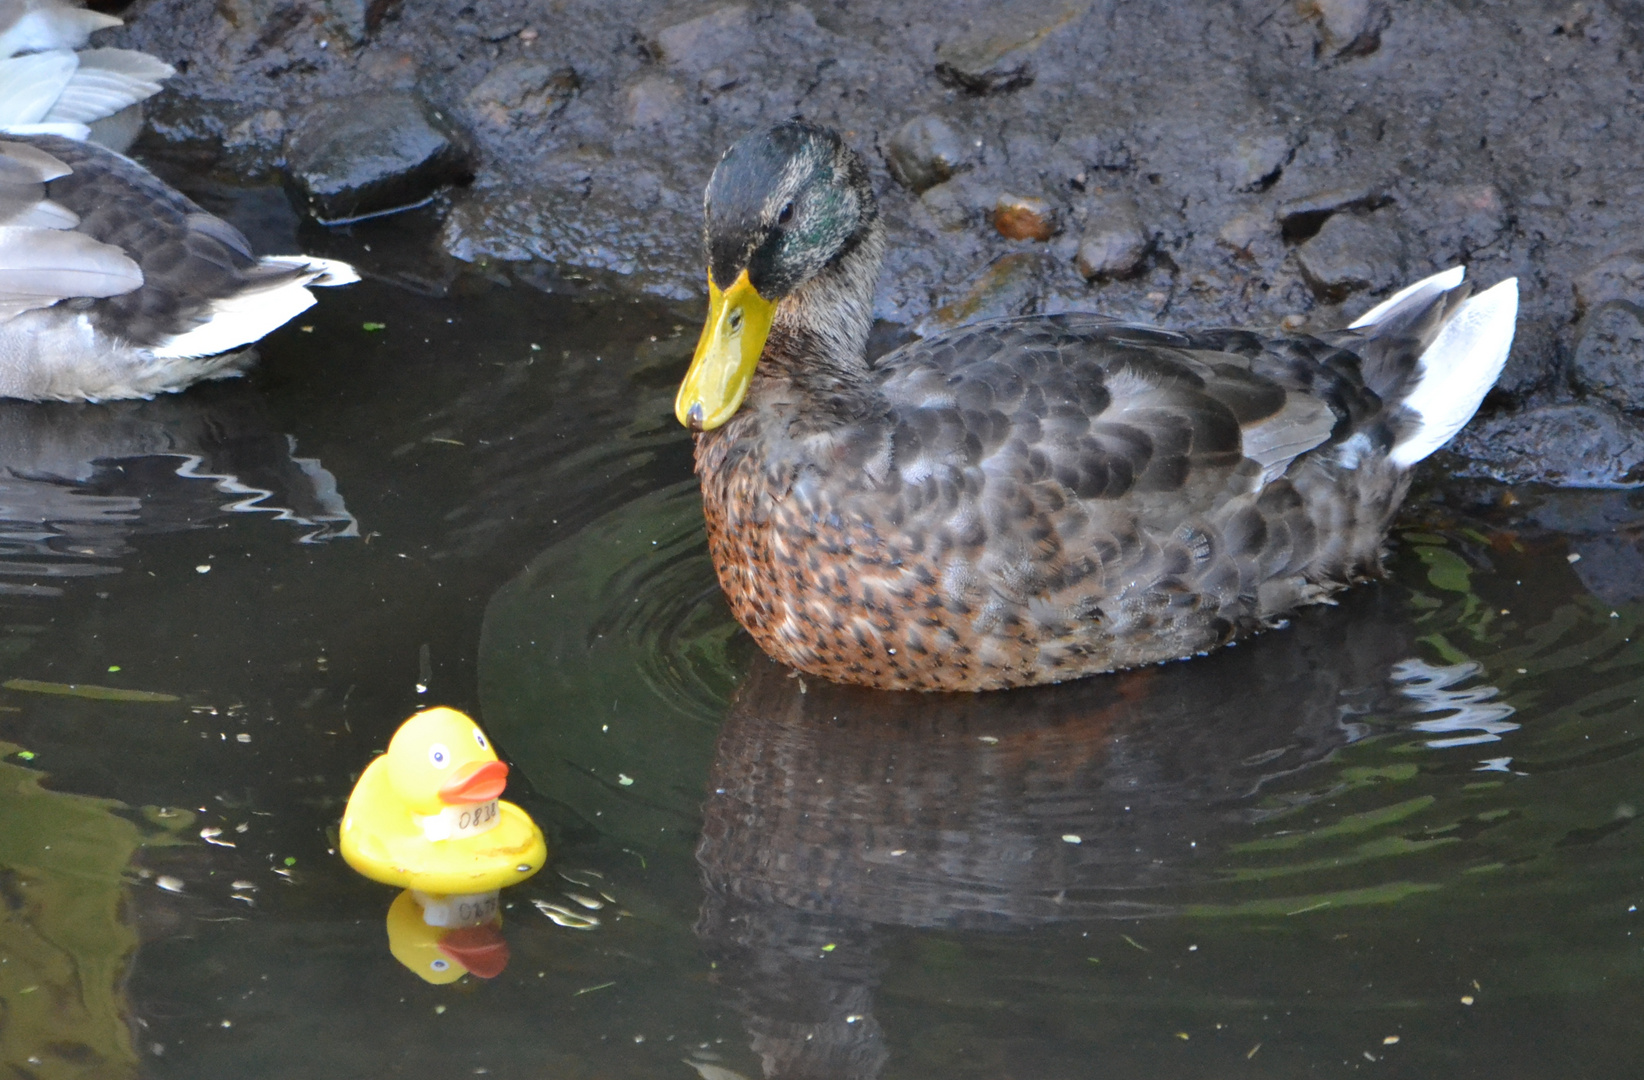
[[838,133],[804,120],[738,140],[702,202],[709,319],[674,399],[692,431],[735,416],[778,301],[845,258],[878,217],[861,158]]

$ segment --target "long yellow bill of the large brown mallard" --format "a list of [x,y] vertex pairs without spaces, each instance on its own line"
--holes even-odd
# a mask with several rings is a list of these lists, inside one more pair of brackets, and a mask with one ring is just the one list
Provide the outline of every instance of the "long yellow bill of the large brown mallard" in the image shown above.
[[737,414],[774,316],[776,302],[760,296],[746,270],[723,293],[709,275],[709,321],[674,398],[681,424],[690,431],[713,431]]

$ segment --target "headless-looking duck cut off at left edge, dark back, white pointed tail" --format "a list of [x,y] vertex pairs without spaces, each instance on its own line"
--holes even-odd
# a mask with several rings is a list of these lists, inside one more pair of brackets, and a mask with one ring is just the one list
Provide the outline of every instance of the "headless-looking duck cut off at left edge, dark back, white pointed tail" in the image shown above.
[[0,133],[0,396],[148,398],[240,375],[247,345],[347,284],[256,258],[238,228],[110,150]]

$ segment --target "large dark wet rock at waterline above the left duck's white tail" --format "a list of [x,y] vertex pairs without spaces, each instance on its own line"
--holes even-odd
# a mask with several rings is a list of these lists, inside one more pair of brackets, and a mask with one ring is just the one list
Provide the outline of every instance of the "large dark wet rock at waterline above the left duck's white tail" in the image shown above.
[[462,136],[414,94],[324,100],[286,136],[288,182],[324,224],[421,205],[469,174]]

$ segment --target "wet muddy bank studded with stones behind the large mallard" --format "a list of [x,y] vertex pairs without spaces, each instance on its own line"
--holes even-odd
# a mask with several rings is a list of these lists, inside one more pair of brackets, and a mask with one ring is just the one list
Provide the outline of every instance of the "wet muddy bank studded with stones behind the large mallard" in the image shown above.
[[[460,260],[690,299],[720,151],[804,113],[876,169],[888,321],[1335,325],[1465,261],[1522,288],[1491,406],[1582,399],[1644,447],[1628,376],[1644,21],[1624,0],[138,0],[125,16],[125,43],[179,67],[159,133],[232,169],[283,168],[327,99],[421,97],[467,153],[439,233]],[[1565,429],[1517,432],[1512,460]]]

